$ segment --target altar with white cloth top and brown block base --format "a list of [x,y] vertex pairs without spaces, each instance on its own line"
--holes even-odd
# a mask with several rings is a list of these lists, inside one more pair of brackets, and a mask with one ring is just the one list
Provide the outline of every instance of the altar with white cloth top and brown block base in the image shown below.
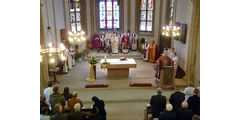
[[[101,68],[104,59],[101,59]],[[126,60],[120,59],[106,59],[109,64],[106,66],[108,78],[128,78],[129,69],[137,68],[137,64],[133,58],[127,58]]]

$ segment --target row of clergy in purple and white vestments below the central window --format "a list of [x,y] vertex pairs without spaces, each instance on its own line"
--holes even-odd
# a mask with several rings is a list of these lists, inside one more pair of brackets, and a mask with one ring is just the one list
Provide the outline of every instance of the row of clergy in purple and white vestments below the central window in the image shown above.
[[137,50],[137,34],[136,33],[117,33],[110,32],[107,33],[102,32],[95,34],[92,37],[92,45],[95,50],[107,51],[108,54],[117,54],[120,50],[122,53],[127,54],[129,49]]

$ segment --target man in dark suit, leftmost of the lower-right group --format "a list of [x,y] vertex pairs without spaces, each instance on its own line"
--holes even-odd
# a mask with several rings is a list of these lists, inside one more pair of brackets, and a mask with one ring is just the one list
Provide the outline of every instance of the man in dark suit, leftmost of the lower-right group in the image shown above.
[[166,97],[162,96],[162,89],[157,89],[157,95],[153,95],[150,101],[151,104],[151,113],[153,118],[158,118],[160,113],[163,112],[166,106]]

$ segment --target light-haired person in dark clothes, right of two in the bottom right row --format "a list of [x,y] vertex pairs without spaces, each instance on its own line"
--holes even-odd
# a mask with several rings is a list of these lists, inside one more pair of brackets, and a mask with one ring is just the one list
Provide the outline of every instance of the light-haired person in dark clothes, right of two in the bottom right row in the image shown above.
[[177,110],[177,120],[192,120],[193,112],[188,108],[188,103],[183,101],[182,109]]

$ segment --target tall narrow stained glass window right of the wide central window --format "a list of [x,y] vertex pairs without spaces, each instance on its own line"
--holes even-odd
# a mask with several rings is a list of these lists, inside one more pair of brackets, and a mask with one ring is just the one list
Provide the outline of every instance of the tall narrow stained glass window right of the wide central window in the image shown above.
[[152,31],[153,0],[141,0],[140,31]]

